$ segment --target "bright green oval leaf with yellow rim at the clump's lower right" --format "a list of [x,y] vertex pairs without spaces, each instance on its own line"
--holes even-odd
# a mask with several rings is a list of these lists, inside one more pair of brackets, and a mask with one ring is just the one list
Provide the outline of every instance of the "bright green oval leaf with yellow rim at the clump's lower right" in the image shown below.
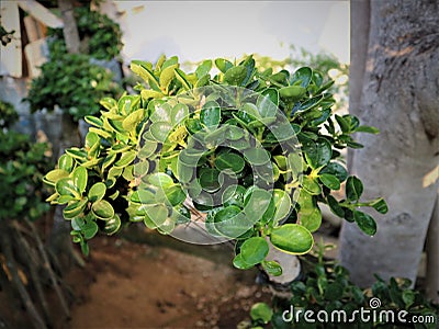
[[279,250],[292,254],[307,253],[314,245],[313,235],[299,224],[285,224],[273,228],[270,240]]

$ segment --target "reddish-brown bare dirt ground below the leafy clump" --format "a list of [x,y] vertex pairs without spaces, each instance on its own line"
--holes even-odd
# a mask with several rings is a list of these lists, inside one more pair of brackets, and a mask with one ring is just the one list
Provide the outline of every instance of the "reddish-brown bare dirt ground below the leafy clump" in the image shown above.
[[86,269],[67,276],[76,297],[71,319],[55,327],[236,328],[254,303],[269,300],[255,271],[232,266],[232,250],[195,247],[207,253],[95,239]]

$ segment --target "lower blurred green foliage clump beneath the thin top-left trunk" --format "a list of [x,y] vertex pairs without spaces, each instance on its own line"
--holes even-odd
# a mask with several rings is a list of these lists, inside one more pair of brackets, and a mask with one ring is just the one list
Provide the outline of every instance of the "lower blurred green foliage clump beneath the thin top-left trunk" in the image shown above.
[[112,72],[91,64],[87,55],[57,54],[41,70],[26,98],[33,112],[58,105],[78,120],[99,112],[100,99],[120,94]]

